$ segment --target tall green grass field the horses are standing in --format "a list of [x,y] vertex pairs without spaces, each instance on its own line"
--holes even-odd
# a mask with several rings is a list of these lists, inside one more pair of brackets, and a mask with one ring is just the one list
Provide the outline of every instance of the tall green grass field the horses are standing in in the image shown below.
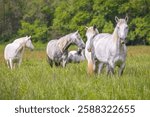
[[0,46],[0,99],[150,99],[150,46],[128,47],[126,69],[117,75],[88,76],[86,61],[50,68],[45,49],[24,54],[20,69],[10,70]]

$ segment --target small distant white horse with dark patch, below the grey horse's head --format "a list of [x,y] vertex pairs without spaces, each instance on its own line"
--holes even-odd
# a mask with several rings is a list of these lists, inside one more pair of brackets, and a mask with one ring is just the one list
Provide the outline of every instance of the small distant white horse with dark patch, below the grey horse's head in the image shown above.
[[72,50],[68,53],[68,63],[80,63],[81,61],[85,60],[85,55],[84,55],[84,50],[82,49],[78,49],[76,50]]

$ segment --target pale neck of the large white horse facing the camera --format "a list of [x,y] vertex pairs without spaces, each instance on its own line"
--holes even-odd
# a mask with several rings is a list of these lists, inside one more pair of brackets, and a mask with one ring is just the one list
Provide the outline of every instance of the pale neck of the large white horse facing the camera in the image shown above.
[[116,47],[116,52],[120,53],[120,51],[123,49],[123,45],[121,44],[121,40],[118,36],[118,28],[116,27],[113,34],[112,34],[112,40]]

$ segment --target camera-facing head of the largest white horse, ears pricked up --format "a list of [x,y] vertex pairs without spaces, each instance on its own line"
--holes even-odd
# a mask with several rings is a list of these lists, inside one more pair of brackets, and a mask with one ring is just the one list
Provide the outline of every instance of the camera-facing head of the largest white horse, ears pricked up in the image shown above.
[[127,37],[128,34],[128,25],[127,25],[127,21],[128,19],[118,19],[116,18],[116,22],[117,22],[117,32],[118,32],[118,36],[121,39],[121,43],[124,44],[125,43],[125,39]]

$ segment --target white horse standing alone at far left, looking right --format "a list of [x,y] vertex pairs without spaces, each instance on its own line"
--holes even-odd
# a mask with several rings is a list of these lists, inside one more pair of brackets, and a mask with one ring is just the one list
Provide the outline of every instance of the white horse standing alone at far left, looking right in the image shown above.
[[31,42],[31,36],[22,37],[14,40],[12,43],[6,45],[4,49],[4,58],[7,62],[8,68],[15,68],[16,65],[20,66],[25,47],[34,49]]

